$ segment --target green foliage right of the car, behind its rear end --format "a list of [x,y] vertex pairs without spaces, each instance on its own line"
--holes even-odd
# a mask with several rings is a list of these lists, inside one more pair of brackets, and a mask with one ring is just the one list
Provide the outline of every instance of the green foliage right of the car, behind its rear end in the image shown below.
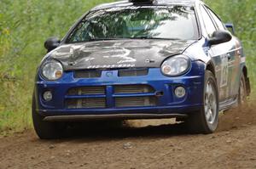
[[253,87],[253,95],[256,91],[256,3],[255,0],[205,0],[207,5],[225,23],[233,23],[236,29],[236,37],[241,39],[247,56],[247,67]]

